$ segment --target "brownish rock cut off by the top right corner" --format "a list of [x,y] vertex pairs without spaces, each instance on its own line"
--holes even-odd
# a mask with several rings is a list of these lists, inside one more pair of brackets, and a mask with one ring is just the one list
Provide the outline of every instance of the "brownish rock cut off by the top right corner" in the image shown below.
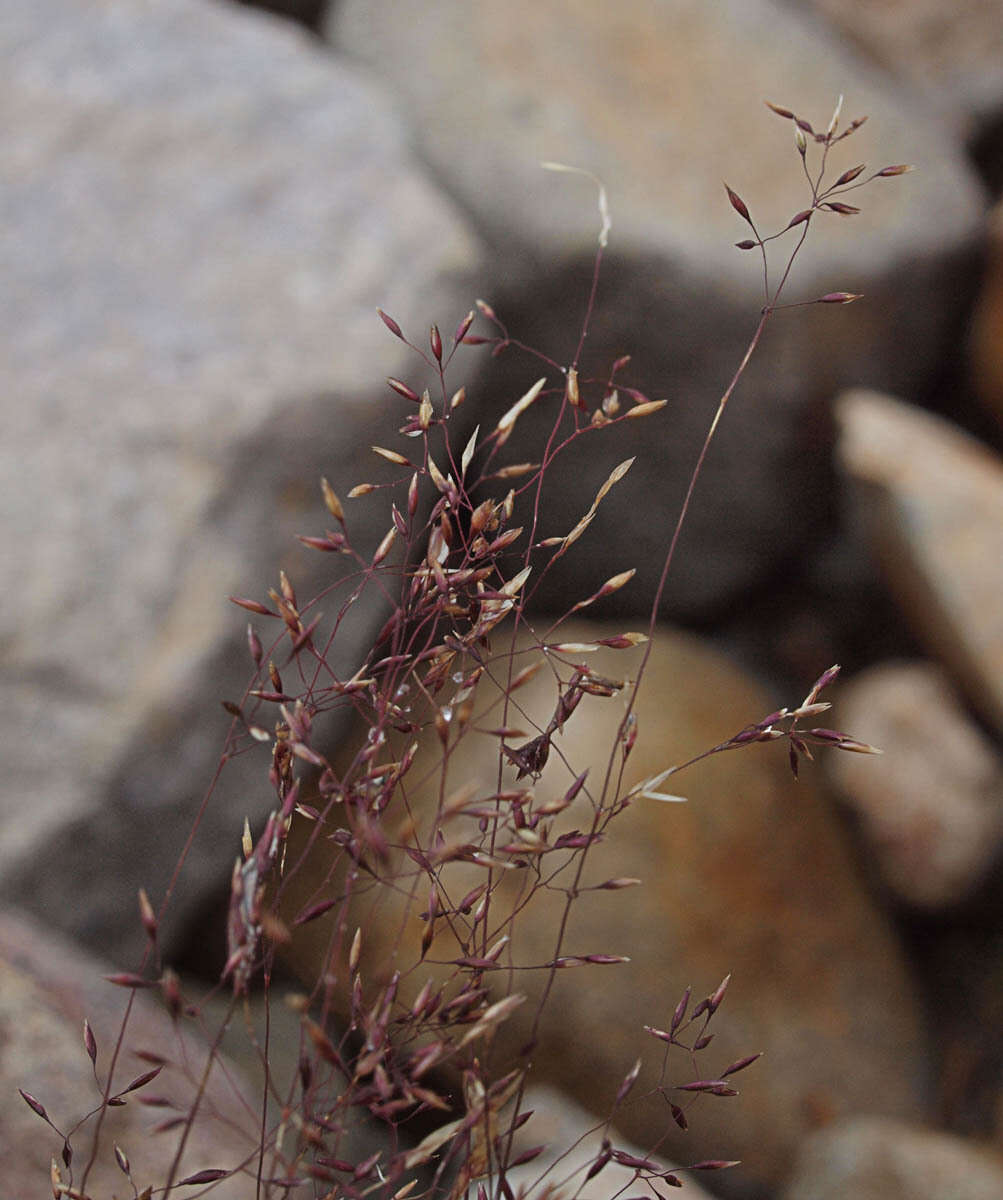
[[853,46],[899,76],[920,102],[953,118],[961,136],[1003,114],[1003,4],[962,0],[799,0]]

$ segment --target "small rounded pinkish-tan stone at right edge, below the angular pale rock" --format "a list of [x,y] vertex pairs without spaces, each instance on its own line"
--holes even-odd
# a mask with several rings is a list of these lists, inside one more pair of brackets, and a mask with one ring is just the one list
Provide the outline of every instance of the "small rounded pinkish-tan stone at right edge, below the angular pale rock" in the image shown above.
[[943,672],[888,662],[843,684],[840,722],[884,750],[879,769],[831,755],[829,773],[895,898],[937,910],[963,901],[1003,847],[1003,762]]

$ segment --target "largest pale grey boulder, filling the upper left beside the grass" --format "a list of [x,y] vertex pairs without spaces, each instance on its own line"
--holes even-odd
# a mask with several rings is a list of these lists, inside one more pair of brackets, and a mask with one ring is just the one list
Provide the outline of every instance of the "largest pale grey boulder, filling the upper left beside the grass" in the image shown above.
[[[388,104],[288,22],[12,0],[0,54],[0,894],[121,958],[250,677],[226,595],[330,580],[292,538],[324,528],[320,474],[356,482],[396,436],[382,379],[413,372],[374,306],[452,329],[479,251]],[[217,790],[175,917],[269,804],[259,767]]]

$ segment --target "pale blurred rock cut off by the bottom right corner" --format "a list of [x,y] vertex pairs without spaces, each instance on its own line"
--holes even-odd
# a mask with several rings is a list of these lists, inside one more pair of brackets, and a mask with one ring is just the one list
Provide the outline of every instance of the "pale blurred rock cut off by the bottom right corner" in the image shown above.
[[813,1134],[801,1148],[786,1200],[995,1200],[1003,1159],[978,1144],[858,1116]]

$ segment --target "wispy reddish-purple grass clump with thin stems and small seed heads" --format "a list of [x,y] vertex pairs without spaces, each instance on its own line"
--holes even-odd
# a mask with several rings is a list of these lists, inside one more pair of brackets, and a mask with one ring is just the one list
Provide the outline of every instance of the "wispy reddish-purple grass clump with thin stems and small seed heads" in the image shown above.
[[[143,1198],[203,1195],[236,1181],[239,1190],[228,1194],[513,1200],[510,1172],[524,1170],[543,1151],[542,1145],[522,1148],[525,1135],[516,1134],[527,1124],[531,1130],[524,1093],[554,982],[571,968],[608,971],[624,961],[615,946],[572,953],[565,944],[571,911],[584,889],[620,892],[642,883],[602,878],[601,872],[599,882],[587,882],[591,876],[585,869],[594,866],[593,859],[601,863],[611,824],[633,803],[679,799],[675,776],[686,768],[753,743],[782,742],[795,775],[799,761],[818,746],[875,752],[816,725],[829,708],[821,696],[839,670],[831,667],[799,704],[763,718],[750,714],[750,724],[719,745],[696,748],[686,762],[666,763],[657,774],[629,784],[631,751],[644,737],[635,700],[715,431],[767,324],[781,310],[859,299],[834,290],[781,302],[810,229],[821,220],[854,216],[859,210],[847,196],[909,169],[867,173],[854,166],[827,182],[830,154],[863,120],[841,127],[840,101],[824,132],[816,132],[791,109],[769,107],[793,125],[807,205],[783,228],[763,235],[746,203],[726,187],[751,234],[737,245],[761,262],[763,306],[720,397],[681,509],[667,523],[657,587],[638,601],[647,612],[639,632],[625,629],[584,642],[561,632],[579,613],[601,613],[607,596],[630,587],[632,569],[612,575],[563,614],[534,617],[540,581],[566,566],[565,554],[588,533],[611,490],[630,486],[632,460],[621,462],[595,496],[582,497],[582,516],[571,529],[545,535],[542,485],[553,463],[587,450],[594,437],[615,438],[624,422],[656,422],[667,403],[630,386],[626,355],[599,374],[582,367],[609,232],[601,185],[591,290],[570,364],[512,337],[480,300],[451,337],[432,325],[427,344],[412,341],[391,316],[379,313],[389,332],[413,350],[416,373],[431,373],[433,385],[389,379],[388,444],[372,448],[371,480],[350,486],[344,504],[332,484],[322,480],[326,527],[300,540],[332,557],[336,569],[325,592],[304,601],[280,572],[266,599],[233,598],[253,618],[247,626],[253,678],[240,700],[224,704],[233,724],[221,768],[236,755],[259,755],[263,786],[275,796],[275,806],[257,835],[247,826],[242,840],[234,834],[240,853],[226,935],[220,934],[228,946],[218,985],[229,992],[224,1015],[215,1036],[210,1031],[198,1070],[172,1044],[140,1050],[148,1069],[126,1078],[137,991],[157,992],[179,1031],[203,1024],[204,1002],[184,992],[158,950],[175,872],[175,884],[157,907],[140,893],[149,941],[143,962],[110,978],[133,994],[116,1044],[100,1048],[90,1025],[84,1027],[96,1102],[72,1128],[64,1128],[40,1099],[22,1092],[61,1146],[52,1170],[56,1200],[91,1195],[89,1177],[106,1154],[114,1156],[124,1189]],[[531,372],[524,392],[500,419],[470,432],[461,420],[467,403],[462,366],[467,348],[478,346],[493,355],[525,354]],[[535,446],[519,438],[519,418],[530,406],[551,414],[542,444]],[[385,532],[376,546],[356,542],[354,504],[385,512]],[[573,571],[567,575],[573,583]],[[360,604],[385,605],[389,617],[371,646],[358,647],[354,672],[338,676],[332,648],[341,652],[346,616]],[[624,666],[615,676],[588,665],[600,648],[621,654]],[[523,689],[536,676],[549,688],[543,716],[523,703]],[[561,744],[563,731],[587,700],[609,710],[605,769],[597,773],[569,761]],[[490,787],[455,778],[451,764],[461,745],[473,745],[478,761],[490,766]],[[224,770],[205,803],[221,778]],[[521,930],[535,919],[531,901],[540,896],[551,908],[553,943],[542,959],[528,961],[521,956]],[[277,962],[298,961],[302,970],[302,958],[292,948],[306,936],[313,974],[302,991],[282,997],[299,1014],[295,1069],[277,1069],[268,1037],[259,1042],[247,1016],[259,1057],[259,1093],[253,1108],[234,1108],[247,1123],[252,1148],[240,1162],[206,1163],[182,1175],[191,1130],[221,1120],[206,1100],[206,1084],[211,1073],[224,1069],[218,1054],[224,1031],[232,1022],[240,1026],[251,995],[271,1000]],[[701,1097],[734,1097],[734,1076],[758,1058],[749,1054],[710,1074],[699,1066],[727,984],[725,979],[696,1002],[687,990],[674,1009],[650,1014],[656,1024],[638,1030],[639,1042],[649,1037],[665,1045],[655,1094],[667,1126],[685,1128]],[[678,1060],[669,1057],[671,1050]],[[163,1115],[150,1088],[168,1066],[188,1070],[192,1087],[184,1109]],[[639,1192],[650,1195],[680,1186],[686,1172],[734,1165],[711,1159],[669,1171],[647,1153],[618,1148],[611,1129],[638,1080],[641,1061],[624,1066],[619,1090],[603,1098],[608,1116],[596,1126],[602,1134],[596,1154],[577,1174],[561,1175],[557,1147],[557,1163],[533,1184],[537,1194],[560,1182],[575,1196],[609,1163],[630,1169]],[[106,1135],[110,1110],[144,1099],[158,1117],[154,1136],[174,1139],[173,1162],[162,1180],[133,1180],[127,1147],[109,1146]],[[380,1130],[361,1157],[353,1151],[359,1114]],[[553,1157],[553,1147],[551,1152]]]

